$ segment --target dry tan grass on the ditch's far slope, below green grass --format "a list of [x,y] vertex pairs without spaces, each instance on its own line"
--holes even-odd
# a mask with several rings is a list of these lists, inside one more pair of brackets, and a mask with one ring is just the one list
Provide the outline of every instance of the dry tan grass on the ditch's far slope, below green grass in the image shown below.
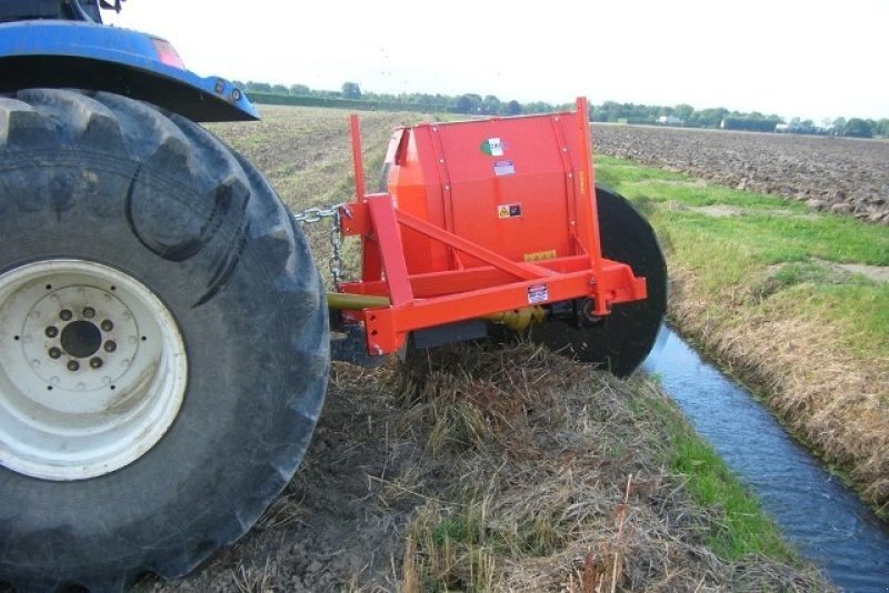
[[[833,464],[848,468],[863,496],[889,504],[889,368],[868,364],[837,348],[838,328],[801,320],[792,303],[772,296],[765,306],[720,312],[702,296],[697,277],[675,267],[671,315],[729,370],[767,394],[793,432]],[[726,303],[756,295],[732,293]],[[792,295],[789,296],[792,300]]]

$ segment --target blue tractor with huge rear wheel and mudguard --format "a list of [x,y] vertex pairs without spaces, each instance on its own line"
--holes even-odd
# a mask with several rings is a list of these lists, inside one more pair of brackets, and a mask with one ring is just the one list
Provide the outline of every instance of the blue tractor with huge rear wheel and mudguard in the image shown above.
[[19,591],[120,591],[240,537],[328,374],[299,229],[196,123],[256,110],[107,9],[0,2],[0,583]]

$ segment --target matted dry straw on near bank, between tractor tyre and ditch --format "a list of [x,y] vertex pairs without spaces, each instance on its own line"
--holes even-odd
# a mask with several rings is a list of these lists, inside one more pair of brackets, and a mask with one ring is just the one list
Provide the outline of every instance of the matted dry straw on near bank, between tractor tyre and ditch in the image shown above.
[[773,561],[712,553],[703,534],[721,511],[696,506],[662,463],[670,445],[647,403],[663,403],[652,385],[529,344],[456,346],[404,373],[394,432],[424,443],[447,484],[427,491],[408,527],[404,591],[827,586]]

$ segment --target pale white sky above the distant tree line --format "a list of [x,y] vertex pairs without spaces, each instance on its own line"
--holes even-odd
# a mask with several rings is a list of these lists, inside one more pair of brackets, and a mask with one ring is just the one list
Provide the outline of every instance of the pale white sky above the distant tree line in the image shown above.
[[201,76],[889,118],[887,0],[128,0],[107,14]]

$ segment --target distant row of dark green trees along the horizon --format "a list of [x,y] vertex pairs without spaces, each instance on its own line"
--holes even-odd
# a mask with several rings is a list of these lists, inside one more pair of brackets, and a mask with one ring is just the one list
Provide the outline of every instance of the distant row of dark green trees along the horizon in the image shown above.
[[[260,93],[280,97],[306,98],[302,104],[324,104],[324,101],[347,107],[367,103],[402,108],[407,110],[443,111],[466,113],[470,115],[519,115],[522,113],[546,113],[570,109],[572,103],[548,103],[532,101],[520,103],[513,100],[500,100],[493,94],[463,93],[459,96],[429,93],[376,93],[362,91],[356,82],[344,82],[340,90],[311,89],[306,84],[270,84],[268,82],[234,81],[248,93]],[[286,101],[281,101],[286,102]],[[356,103],[359,102],[359,103]],[[875,135],[889,138],[889,119],[837,118],[822,120],[816,124],[812,120],[793,118],[785,121],[776,114],[763,114],[758,111],[740,112],[725,108],[695,109],[690,104],[646,105],[637,103],[619,103],[606,101],[590,107],[590,121],[637,124],[665,124],[685,128],[723,128],[748,131],[782,131],[790,133],[832,134],[858,138]]]

